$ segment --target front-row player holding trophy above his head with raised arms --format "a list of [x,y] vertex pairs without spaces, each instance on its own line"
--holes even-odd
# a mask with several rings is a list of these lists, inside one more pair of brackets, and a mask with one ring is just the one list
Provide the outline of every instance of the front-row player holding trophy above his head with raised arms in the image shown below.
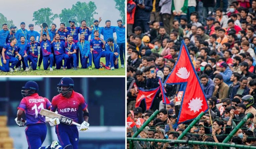
[[46,34],[43,34],[43,27],[42,27],[41,33],[40,33],[40,39],[39,39],[40,47],[41,47],[41,51],[42,51],[41,56],[43,56],[44,70],[47,70],[48,67],[50,66],[50,71],[53,71],[53,69],[52,69],[53,54],[52,54],[52,50],[51,50],[51,41],[50,41],[51,38],[49,36],[48,30],[47,30]]

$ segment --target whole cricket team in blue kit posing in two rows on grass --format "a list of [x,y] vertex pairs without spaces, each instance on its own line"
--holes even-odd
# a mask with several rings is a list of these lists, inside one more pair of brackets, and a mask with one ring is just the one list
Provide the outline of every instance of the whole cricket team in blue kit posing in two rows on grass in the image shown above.
[[[100,21],[101,18],[99,21],[94,20],[92,29],[86,26],[84,20],[81,21],[82,27],[75,27],[75,21],[69,21],[70,27],[61,23],[59,29],[56,29],[55,24],[52,24],[51,29],[41,26],[40,34],[34,31],[33,24],[29,25],[30,31],[27,31],[25,23],[21,22],[21,29],[17,33],[16,27],[11,26],[9,31],[7,24],[3,24],[0,31],[0,71],[13,72],[20,71],[21,68],[26,72],[38,70],[42,61],[44,70],[77,70],[79,59],[81,68],[84,69],[92,70],[92,62],[96,69],[118,69],[118,58],[123,60],[125,55],[125,26],[121,20],[117,21],[117,27],[111,26],[111,22],[107,20],[105,27],[98,27]],[[117,33],[117,44],[114,43],[114,32]],[[119,45],[122,45],[120,49]],[[102,57],[105,57],[106,65],[100,62]],[[124,68],[123,61],[121,65]]]

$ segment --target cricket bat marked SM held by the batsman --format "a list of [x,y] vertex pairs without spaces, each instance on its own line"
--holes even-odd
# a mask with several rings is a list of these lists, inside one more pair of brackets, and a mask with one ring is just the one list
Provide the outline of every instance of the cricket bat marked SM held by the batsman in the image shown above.
[[46,109],[42,109],[40,111],[40,114],[49,117],[49,118],[45,119],[46,122],[49,122],[50,118],[58,117],[60,119],[60,122],[65,123],[67,125],[73,124],[73,125],[77,125],[79,127],[81,126],[80,124],[74,122],[73,119],[71,119],[71,118],[62,116],[62,115],[60,115],[58,113],[55,113],[55,112],[52,112],[52,111],[49,111],[49,110],[46,110]]

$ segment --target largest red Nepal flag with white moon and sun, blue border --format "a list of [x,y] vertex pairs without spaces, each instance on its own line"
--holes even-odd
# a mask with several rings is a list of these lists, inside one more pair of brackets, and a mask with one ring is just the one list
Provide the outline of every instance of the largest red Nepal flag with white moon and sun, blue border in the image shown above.
[[208,110],[208,104],[199,77],[182,41],[178,60],[164,84],[180,84],[179,91],[184,91],[177,124],[196,118],[202,111]]

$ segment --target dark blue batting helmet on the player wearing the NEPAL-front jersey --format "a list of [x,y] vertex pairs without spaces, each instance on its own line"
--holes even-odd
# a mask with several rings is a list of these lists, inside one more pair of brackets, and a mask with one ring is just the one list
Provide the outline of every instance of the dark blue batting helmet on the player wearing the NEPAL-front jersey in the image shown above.
[[[74,81],[70,77],[63,77],[58,85],[58,92],[62,94],[62,96],[66,95],[69,92],[72,92],[74,89]],[[67,86],[68,88],[62,88],[62,86]]]

